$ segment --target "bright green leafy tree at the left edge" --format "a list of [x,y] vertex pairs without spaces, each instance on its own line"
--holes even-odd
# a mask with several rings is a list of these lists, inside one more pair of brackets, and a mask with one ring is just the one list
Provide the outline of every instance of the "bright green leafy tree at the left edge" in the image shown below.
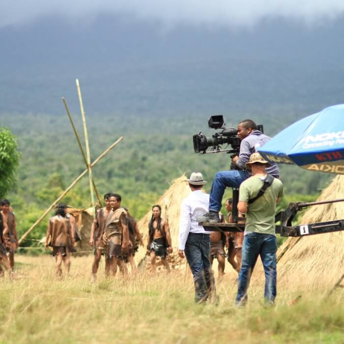
[[16,183],[15,171],[19,164],[18,144],[8,128],[0,125],[0,198]]

